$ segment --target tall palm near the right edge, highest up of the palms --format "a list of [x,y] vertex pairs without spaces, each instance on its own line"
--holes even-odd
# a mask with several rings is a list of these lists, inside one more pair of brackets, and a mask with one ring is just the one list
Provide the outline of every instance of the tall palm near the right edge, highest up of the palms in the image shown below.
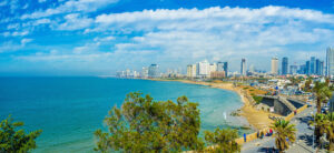
[[315,82],[313,92],[316,95],[316,113],[321,113],[322,112],[322,103],[324,103],[327,99],[331,99],[332,91],[326,85],[326,83]]

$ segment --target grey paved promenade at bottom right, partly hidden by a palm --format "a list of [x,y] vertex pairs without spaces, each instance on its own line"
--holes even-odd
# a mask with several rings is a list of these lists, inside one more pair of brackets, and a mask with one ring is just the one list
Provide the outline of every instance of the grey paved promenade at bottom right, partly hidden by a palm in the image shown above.
[[[297,135],[296,142],[286,151],[286,153],[312,153],[315,152],[312,147],[313,130],[307,125],[312,119],[314,106],[307,108],[305,111],[295,115],[291,122],[296,124]],[[275,139],[265,136],[263,140],[255,140],[243,145],[242,153],[254,152],[273,152]]]

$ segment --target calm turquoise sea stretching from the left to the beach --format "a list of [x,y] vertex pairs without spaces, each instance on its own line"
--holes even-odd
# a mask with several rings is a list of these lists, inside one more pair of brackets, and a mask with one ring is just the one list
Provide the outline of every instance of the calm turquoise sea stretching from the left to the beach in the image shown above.
[[[187,95],[198,102],[202,129],[247,124],[229,112],[242,106],[232,91],[180,82],[102,78],[0,78],[0,119],[12,114],[27,131],[43,130],[33,152],[92,152],[94,131],[125,95],[140,91],[155,100]],[[227,115],[225,120],[225,115]],[[247,131],[248,133],[249,131]]]

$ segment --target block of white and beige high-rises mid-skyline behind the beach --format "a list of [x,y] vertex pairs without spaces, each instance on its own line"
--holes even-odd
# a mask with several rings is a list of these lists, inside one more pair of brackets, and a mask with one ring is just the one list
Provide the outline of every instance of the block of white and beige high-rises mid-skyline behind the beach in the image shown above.
[[207,60],[195,64],[187,65],[187,78],[226,78],[228,73],[228,63],[227,62],[216,62],[209,63]]

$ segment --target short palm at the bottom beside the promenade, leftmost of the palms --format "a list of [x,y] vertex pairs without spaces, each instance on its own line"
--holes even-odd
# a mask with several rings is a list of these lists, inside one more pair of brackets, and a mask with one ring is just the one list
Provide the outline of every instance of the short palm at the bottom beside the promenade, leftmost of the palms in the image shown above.
[[275,131],[275,144],[279,152],[288,149],[289,142],[296,141],[296,129],[295,124],[289,124],[288,121],[277,120],[271,126]]

